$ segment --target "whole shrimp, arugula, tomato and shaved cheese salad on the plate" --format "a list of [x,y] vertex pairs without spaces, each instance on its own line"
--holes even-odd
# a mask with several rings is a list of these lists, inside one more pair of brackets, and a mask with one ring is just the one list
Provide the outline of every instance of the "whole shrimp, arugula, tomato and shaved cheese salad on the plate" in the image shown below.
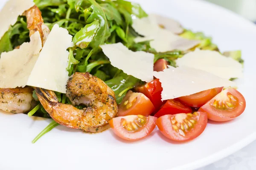
[[[111,127],[130,141],[157,126],[184,142],[208,120],[244,112],[232,82],[242,74],[241,51],[221,53],[203,33],[125,0],[26,0],[10,8],[15,3],[0,12],[8,28],[0,31],[0,109],[52,119],[33,143],[58,125],[88,133]],[[14,23],[3,19],[6,8],[22,11]]]

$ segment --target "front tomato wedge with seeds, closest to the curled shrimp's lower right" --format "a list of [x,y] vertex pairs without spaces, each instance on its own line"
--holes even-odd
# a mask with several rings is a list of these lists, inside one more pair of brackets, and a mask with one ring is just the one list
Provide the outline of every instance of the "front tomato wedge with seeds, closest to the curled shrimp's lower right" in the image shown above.
[[136,141],[148,136],[156,127],[156,121],[154,116],[129,115],[113,118],[109,125],[120,138]]

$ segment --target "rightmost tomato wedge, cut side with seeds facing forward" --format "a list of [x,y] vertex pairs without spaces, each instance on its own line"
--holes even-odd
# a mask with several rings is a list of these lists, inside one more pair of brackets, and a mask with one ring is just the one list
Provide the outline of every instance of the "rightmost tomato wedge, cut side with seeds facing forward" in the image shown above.
[[245,106],[244,96],[234,88],[227,88],[203,105],[199,111],[206,112],[210,120],[226,122],[241,115]]

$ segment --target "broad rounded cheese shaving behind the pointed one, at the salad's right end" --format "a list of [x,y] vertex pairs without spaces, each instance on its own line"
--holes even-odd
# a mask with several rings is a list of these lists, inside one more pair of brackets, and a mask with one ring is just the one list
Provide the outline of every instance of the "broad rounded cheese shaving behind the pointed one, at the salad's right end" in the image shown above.
[[225,79],[239,78],[243,75],[241,63],[217,51],[198,49],[178,58],[176,64],[204,70]]

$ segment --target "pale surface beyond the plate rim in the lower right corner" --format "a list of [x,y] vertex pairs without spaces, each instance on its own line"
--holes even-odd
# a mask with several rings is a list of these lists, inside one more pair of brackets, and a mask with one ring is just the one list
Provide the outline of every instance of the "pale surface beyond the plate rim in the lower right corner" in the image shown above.
[[236,153],[198,170],[256,170],[256,141]]

